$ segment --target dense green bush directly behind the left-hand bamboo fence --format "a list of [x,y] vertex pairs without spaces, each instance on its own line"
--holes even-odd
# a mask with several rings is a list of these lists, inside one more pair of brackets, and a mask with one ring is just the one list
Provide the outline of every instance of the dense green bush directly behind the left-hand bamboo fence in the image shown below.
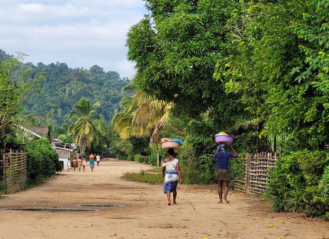
[[61,170],[58,154],[51,148],[48,139],[40,138],[27,142],[28,183],[41,181]]

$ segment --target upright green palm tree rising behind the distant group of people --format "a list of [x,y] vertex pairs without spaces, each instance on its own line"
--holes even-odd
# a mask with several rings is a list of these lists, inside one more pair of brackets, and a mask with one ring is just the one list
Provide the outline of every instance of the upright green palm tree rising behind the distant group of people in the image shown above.
[[93,106],[90,104],[90,100],[81,98],[79,102],[73,106],[73,110],[70,112],[68,119],[76,119],[76,121],[68,127],[68,134],[72,133],[73,141],[80,147],[80,154],[84,155],[86,145],[90,147],[91,142],[96,138],[98,141],[99,130],[105,135],[105,129],[103,127],[104,119],[102,116],[95,114],[96,109],[100,106],[99,103],[95,103]]

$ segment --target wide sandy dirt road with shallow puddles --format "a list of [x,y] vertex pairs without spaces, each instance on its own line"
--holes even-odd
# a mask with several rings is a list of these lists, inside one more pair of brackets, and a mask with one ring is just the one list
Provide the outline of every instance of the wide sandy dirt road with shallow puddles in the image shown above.
[[[161,185],[127,182],[122,172],[144,164],[101,162],[94,172],[63,172],[28,191],[5,195],[0,207],[123,204],[97,212],[0,210],[0,238],[329,238],[329,223],[293,213],[271,213],[257,197],[229,192],[217,204],[214,186],[182,185],[167,206]],[[90,207],[90,209],[92,209]],[[267,227],[276,225],[277,228]]]

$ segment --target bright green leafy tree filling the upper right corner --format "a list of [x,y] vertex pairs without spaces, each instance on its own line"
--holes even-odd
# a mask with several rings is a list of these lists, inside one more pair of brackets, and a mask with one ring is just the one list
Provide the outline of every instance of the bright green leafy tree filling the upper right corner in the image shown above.
[[240,3],[226,25],[229,56],[218,60],[215,79],[239,96],[261,135],[323,148],[329,133],[325,1]]

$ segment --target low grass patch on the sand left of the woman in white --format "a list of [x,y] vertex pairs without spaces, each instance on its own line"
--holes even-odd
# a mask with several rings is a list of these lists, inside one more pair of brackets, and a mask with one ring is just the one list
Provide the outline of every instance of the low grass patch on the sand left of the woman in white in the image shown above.
[[[153,169],[152,169],[153,170]],[[162,173],[148,172],[141,169],[138,173],[136,172],[126,172],[121,176],[121,179],[126,179],[135,182],[146,182],[150,184],[163,184],[164,179],[162,178]]]

